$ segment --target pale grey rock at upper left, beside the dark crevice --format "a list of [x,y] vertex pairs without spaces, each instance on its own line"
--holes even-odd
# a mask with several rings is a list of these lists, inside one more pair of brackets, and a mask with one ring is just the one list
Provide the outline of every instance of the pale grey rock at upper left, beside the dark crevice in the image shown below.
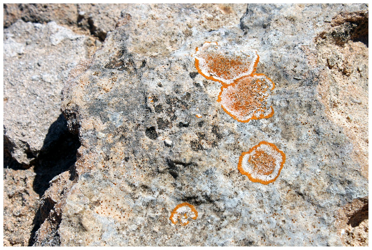
[[70,69],[87,58],[88,38],[55,22],[22,20],[4,34],[4,148],[29,165],[67,132],[60,90]]

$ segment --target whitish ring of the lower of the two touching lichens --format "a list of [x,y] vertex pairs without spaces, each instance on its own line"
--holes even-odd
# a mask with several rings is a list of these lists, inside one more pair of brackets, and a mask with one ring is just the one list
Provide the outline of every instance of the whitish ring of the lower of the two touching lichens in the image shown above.
[[[249,76],[249,78],[250,78],[250,76]],[[241,79],[242,79],[242,81],[244,80],[244,78],[241,78]],[[266,105],[264,105],[264,110],[262,109],[263,108],[262,106],[261,107],[256,107],[256,108],[252,109],[249,112],[249,114],[247,114],[245,116],[242,116],[240,110],[236,110],[234,108],[231,108],[234,105],[234,103],[237,102],[237,100],[235,100],[234,98],[229,99],[229,98],[226,97],[230,93],[235,93],[235,92],[240,91],[239,90],[239,80],[237,81],[237,84],[232,84],[232,85],[229,85],[225,88],[222,88],[220,98],[219,98],[219,103],[221,103],[222,107],[225,108],[228,111],[228,113],[230,113],[233,117],[238,118],[238,120],[247,121],[247,120],[252,119],[253,116],[255,116],[256,118],[257,117],[267,117],[272,113],[272,108],[270,107],[270,104],[267,104],[267,100],[268,100],[268,97],[273,93],[274,84],[265,75],[254,74],[253,77],[251,78],[251,81],[254,81],[256,79],[262,80],[267,84],[266,88],[264,88],[264,91],[261,92],[260,95],[258,96],[258,97],[261,97],[263,100],[265,100]]]

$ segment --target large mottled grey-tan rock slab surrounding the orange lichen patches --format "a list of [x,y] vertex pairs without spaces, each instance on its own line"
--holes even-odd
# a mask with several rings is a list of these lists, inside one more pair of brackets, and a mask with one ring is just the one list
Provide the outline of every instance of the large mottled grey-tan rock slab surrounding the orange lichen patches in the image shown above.
[[[61,178],[72,181],[52,184],[63,195],[53,199],[35,246],[343,244],[334,215],[368,196],[368,179],[353,158],[354,142],[319,97],[318,88],[342,73],[325,69],[318,48],[343,46],[321,38],[331,29],[324,20],[367,7],[244,9],[135,4],[122,11],[62,90],[61,110],[81,147]],[[257,72],[275,83],[272,117],[243,123],[225,113],[217,102],[221,83],[195,74],[191,55],[206,41],[257,51]],[[366,49],[360,41],[344,44]],[[262,141],[286,156],[267,185],[237,169],[241,153]],[[171,212],[185,202],[198,217],[175,225]]]

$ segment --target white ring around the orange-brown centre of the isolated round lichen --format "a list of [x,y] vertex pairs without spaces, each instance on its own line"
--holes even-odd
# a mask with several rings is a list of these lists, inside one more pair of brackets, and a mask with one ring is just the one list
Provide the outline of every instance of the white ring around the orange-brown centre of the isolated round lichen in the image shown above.
[[[264,151],[265,153],[267,153],[267,155],[275,159],[275,169],[271,174],[263,175],[257,173],[254,171],[254,166],[249,163],[250,156],[253,156],[257,151]],[[241,168],[243,169],[243,171],[249,173],[252,179],[258,179],[263,182],[271,182],[275,180],[276,177],[279,175],[280,170],[282,168],[282,162],[283,157],[280,152],[275,150],[275,148],[273,148],[272,146],[262,143],[256,149],[252,150],[251,153],[247,153],[246,155],[243,156]]]

